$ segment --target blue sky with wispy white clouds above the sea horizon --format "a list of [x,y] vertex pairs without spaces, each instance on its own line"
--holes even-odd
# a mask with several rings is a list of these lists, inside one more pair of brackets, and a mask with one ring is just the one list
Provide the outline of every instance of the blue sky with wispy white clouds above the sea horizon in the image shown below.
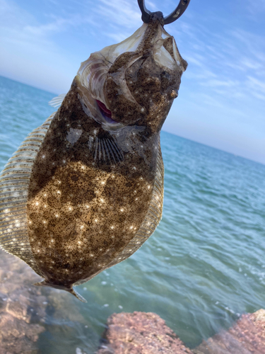
[[[264,19],[265,0],[191,0],[165,26],[189,66],[163,130],[265,164]],[[0,0],[0,75],[66,93],[90,53],[141,24],[136,0]]]

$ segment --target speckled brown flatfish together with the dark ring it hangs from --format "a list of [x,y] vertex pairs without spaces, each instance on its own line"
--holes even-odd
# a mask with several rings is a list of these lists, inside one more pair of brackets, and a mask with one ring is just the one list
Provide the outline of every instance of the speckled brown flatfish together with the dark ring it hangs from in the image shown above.
[[143,25],[90,55],[59,109],[26,137],[0,176],[0,246],[71,292],[133,254],[163,208],[160,130],[187,67],[139,0]]

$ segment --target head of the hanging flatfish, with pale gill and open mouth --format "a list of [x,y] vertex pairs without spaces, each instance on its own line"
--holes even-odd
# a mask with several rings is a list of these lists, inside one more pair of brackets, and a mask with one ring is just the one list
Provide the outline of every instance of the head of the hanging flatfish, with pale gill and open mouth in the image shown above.
[[163,16],[152,13],[131,37],[81,64],[83,109],[105,130],[144,125],[160,131],[186,68]]

